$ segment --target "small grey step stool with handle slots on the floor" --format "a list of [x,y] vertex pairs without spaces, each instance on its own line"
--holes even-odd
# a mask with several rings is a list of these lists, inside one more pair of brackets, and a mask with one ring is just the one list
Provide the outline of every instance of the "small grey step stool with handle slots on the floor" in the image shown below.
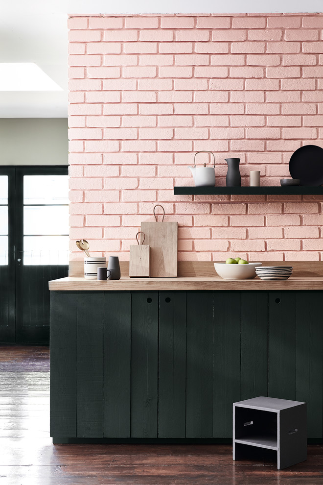
[[277,452],[277,469],[307,458],[306,403],[255,397],[233,403],[233,460],[245,446]]

